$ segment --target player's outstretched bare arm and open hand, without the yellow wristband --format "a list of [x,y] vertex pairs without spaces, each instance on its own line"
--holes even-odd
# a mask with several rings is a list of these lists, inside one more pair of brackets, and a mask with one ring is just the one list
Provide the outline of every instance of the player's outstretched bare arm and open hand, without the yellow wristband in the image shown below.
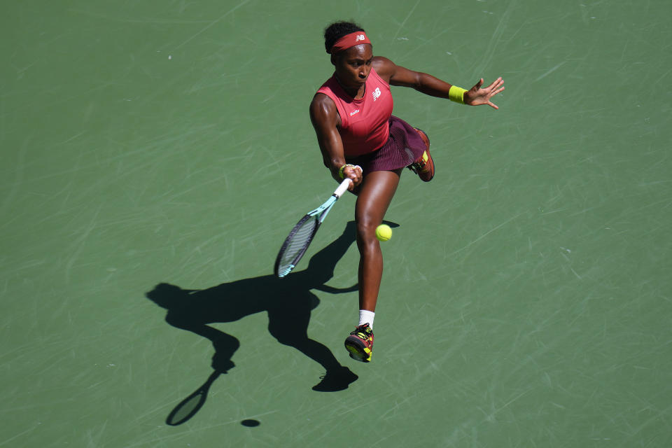
[[[428,94],[432,97],[448,98],[448,92],[452,84],[447,83],[435,76],[421,71],[409,70],[405,67],[395,64],[386,57],[377,56],[373,58],[373,68],[390,85],[400,85],[402,87],[413,87],[418,92]],[[483,78],[481,78],[473,87],[464,94],[464,104],[470,106],[480,106],[487,104],[494,109],[499,109],[490,99],[504,90],[504,80],[497,78],[491,85],[482,87]]]

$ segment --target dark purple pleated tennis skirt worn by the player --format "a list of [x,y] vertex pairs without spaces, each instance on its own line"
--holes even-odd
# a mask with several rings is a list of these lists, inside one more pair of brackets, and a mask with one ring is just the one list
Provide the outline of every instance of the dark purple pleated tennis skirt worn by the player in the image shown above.
[[364,175],[374,171],[405,168],[418,160],[427,147],[414,128],[401,118],[390,117],[390,137],[381,148],[345,161],[362,167]]

